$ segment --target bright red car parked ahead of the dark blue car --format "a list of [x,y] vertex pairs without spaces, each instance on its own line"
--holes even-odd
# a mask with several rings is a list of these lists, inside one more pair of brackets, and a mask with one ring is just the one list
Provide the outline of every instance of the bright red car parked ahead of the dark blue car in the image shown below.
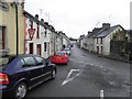
[[52,56],[51,61],[53,64],[67,64],[68,55],[66,54],[66,52],[59,51]]

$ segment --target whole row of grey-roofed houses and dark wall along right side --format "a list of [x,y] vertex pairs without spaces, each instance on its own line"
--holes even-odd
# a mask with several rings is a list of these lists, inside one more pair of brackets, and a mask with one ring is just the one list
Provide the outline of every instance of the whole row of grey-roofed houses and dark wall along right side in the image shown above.
[[78,45],[102,56],[132,61],[132,32],[120,24],[111,26],[110,23],[102,23],[102,28],[95,28],[87,35],[80,35]]

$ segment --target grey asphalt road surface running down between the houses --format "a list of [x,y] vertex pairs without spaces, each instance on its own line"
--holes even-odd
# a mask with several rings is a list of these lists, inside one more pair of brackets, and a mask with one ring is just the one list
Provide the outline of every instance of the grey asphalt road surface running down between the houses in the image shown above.
[[130,64],[72,48],[68,65],[57,65],[54,80],[28,92],[29,97],[130,97]]

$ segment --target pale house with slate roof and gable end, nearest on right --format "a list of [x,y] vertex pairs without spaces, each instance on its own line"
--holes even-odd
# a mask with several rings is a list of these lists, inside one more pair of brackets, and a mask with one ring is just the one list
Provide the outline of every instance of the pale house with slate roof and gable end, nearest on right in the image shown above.
[[95,36],[95,52],[102,55],[110,55],[111,40],[124,41],[125,32],[122,32],[124,29],[121,25],[107,25],[106,29],[102,26],[102,30]]

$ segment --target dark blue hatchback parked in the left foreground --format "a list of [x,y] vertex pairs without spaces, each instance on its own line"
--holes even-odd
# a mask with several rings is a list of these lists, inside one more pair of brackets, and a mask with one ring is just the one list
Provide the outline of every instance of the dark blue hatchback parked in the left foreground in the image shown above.
[[56,75],[55,64],[38,55],[0,57],[0,90],[3,97],[24,98],[28,90]]

